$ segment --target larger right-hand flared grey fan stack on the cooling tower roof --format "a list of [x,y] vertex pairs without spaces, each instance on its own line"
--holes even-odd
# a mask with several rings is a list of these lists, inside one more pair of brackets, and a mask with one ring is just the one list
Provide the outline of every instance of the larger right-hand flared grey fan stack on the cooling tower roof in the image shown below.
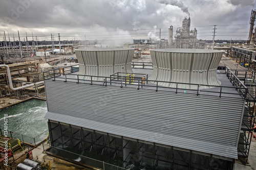
[[[199,49],[160,49],[152,50],[151,58],[154,65],[150,80],[165,81],[158,85],[166,87],[196,89],[204,84],[219,86],[217,67],[222,57],[221,51]],[[201,70],[201,71],[200,71]],[[200,73],[201,72],[201,73]],[[155,82],[156,83],[156,82]],[[210,88],[201,86],[201,88]]]

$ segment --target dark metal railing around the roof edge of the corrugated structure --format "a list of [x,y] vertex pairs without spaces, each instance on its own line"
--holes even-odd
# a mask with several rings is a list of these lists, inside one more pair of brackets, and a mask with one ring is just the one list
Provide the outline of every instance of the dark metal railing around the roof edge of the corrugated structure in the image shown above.
[[[136,88],[155,90],[155,91],[168,91],[175,93],[186,93],[186,94],[196,94],[196,95],[206,95],[206,96],[217,96],[219,98],[235,98],[243,99],[247,98],[247,87],[233,74],[233,72],[226,68],[226,75],[234,85],[230,86],[214,86],[214,85],[204,85],[204,84],[191,84],[191,83],[177,83],[177,82],[167,82],[167,81],[153,81],[141,78],[133,78],[133,83],[127,84],[127,81],[131,77],[126,76],[126,72],[120,72],[118,75],[112,75],[111,77],[101,77],[101,76],[86,76],[73,74],[74,69],[72,66],[65,67],[62,72],[61,69],[56,68],[53,70],[44,72],[44,80],[52,81],[63,81],[63,82],[75,82],[84,83],[90,85],[101,85],[101,86],[119,86],[126,88]],[[76,70],[77,71],[77,70]],[[75,71],[75,72],[76,72]],[[138,74],[136,74],[138,75]],[[162,86],[162,84],[168,84],[169,87]],[[186,87],[193,87],[193,89],[188,89]],[[211,90],[209,88],[215,88]],[[228,92],[232,90],[232,92]],[[234,91],[237,91],[234,92]]]

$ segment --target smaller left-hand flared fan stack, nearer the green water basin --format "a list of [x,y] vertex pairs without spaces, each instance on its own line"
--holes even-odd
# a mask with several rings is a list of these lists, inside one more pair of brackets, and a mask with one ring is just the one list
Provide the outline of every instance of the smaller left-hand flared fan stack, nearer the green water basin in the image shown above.
[[131,63],[134,48],[87,48],[75,50],[75,53],[79,62],[79,79],[91,79],[88,76],[110,77],[115,72],[133,72]]

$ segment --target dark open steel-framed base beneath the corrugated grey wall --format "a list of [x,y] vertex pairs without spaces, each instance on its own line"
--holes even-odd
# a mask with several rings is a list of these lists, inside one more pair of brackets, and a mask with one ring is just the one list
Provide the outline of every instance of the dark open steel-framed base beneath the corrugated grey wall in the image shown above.
[[49,120],[48,126],[52,147],[126,168],[231,170],[233,167],[232,159],[223,159],[212,154],[98,132],[52,120]]

